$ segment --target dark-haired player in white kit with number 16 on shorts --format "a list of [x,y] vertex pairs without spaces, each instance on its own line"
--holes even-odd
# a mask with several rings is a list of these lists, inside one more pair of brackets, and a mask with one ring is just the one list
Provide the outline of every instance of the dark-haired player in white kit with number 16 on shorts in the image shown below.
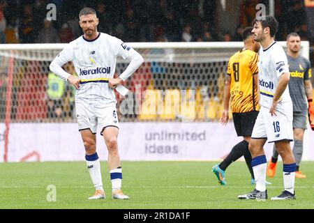
[[265,186],[267,160],[264,144],[274,142],[283,158],[283,192],[271,200],[295,199],[294,177],[296,164],[290,147],[293,141],[293,106],[289,88],[290,72],[283,47],[274,36],[278,22],[272,16],[257,17],[253,22],[254,40],[260,42],[258,63],[260,84],[260,113],[257,116],[248,148],[252,155],[252,167],[256,186],[252,192],[239,195],[239,199],[267,199]]

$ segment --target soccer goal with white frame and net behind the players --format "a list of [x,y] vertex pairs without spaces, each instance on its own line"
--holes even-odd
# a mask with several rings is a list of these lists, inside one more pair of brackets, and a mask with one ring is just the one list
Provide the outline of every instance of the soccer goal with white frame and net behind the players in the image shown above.
[[[285,42],[278,43],[286,49]],[[126,45],[142,54],[144,63],[124,83],[130,93],[125,98],[116,93],[121,122],[218,121],[227,61],[243,47],[242,42]],[[4,128],[4,161],[10,123],[76,122],[75,89],[49,69],[52,59],[65,46],[0,45],[0,130]],[[309,58],[308,41],[301,42],[301,55]],[[128,61],[117,60],[116,77],[126,66]],[[72,63],[66,63],[63,68],[75,74]]]

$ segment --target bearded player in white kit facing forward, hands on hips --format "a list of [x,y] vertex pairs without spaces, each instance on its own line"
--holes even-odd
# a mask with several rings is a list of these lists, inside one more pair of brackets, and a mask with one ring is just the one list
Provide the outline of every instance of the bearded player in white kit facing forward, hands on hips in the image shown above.
[[[96,153],[97,125],[108,149],[112,198],[129,199],[121,191],[122,169],[117,145],[119,122],[113,89],[130,77],[144,60],[118,38],[97,31],[98,18],[94,9],[83,8],[79,17],[84,35],[64,47],[50,64],[50,70],[77,89],[75,109],[78,129],[84,142],[87,168],[96,190],[89,199],[105,198],[100,161]],[[117,56],[130,60],[130,64],[118,78],[113,78]],[[73,62],[78,77],[61,68],[68,61]]]

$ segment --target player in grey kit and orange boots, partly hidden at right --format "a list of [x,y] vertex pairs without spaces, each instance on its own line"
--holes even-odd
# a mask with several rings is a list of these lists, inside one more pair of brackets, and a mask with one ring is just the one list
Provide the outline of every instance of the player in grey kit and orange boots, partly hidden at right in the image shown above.
[[[287,60],[290,70],[289,92],[293,102],[293,155],[297,164],[296,178],[306,178],[299,170],[303,154],[303,138],[306,128],[306,115],[314,115],[313,87],[311,84],[311,62],[300,56],[301,39],[297,33],[287,35]],[[307,105],[308,103],[308,105]],[[314,125],[313,125],[314,130]],[[267,167],[267,176],[276,174],[278,152],[274,146],[271,162]]]

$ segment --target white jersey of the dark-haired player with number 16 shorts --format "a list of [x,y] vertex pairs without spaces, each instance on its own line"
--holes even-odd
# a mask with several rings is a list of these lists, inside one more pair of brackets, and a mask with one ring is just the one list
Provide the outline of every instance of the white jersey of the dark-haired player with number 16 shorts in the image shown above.
[[[287,56],[283,47],[276,42],[271,44],[267,49],[262,49],[262,47],[260,47],[258,70],[260,82],[260,105],[270,109],[278,86],[279,77],[285,72],[289,73]],[[276,110],[285,113],[286,103],[292,104],[288,87],[278,100]]]

